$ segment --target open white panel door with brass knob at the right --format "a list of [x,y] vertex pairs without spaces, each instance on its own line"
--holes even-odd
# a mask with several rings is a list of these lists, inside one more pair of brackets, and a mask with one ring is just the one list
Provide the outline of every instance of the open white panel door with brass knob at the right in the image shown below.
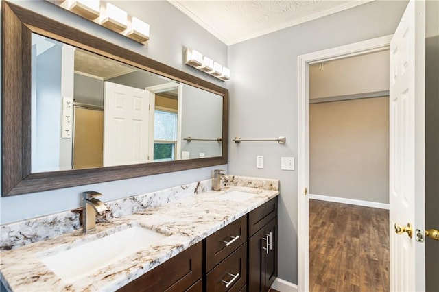
[[411,0],[390,42],[390,291],[425,291],[424,149],[425,2]]

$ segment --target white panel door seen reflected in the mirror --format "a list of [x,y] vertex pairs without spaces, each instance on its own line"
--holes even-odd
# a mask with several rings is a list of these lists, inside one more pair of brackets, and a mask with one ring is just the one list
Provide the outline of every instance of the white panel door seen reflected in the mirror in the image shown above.
[[147,162],[150,93],[105,82],[104,166]]

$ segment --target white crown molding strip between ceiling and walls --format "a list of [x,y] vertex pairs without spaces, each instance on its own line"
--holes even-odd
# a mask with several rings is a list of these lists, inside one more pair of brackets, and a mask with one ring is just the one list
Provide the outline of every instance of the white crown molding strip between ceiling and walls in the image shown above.
[[327,16],[330,14],[334,14],[343,10],[348,10],[351,8],[354,8],[358,5],[363,5],[368,2],[374,1],[374,0],[359,0],[359,1],[350,1],[343,5],[337,5],[334,8],[331,8],[329,10],[324,10],[321,12],[317,12],[315,14],[311,14],[308,16],[300,17],[299,19],[292,19],[291,21],[285,21],[285,23],[282,23],[281,25],[276,25],[274,27],[270,27],[268,29],[264,29],[259,32],[254,32],[253,34],[248,34],[246,36],[241,36],[240,38],[228,38],[228,36],[224,36],[222,34],[219,34],[217,30],[215,30],[213,27],[211,27],[208,23],[202,21],[200,17],[198,17],[195,13],[191,12],[191,10],[187,9],[184,5],[180,3],[180,1],[177,0],[167,0],[171,5],[174,5],[175,8],[180,10],[180,12],[183,12],[187,16],[189,16],[190,19],[195,21],[195,23],[198,23],[201,27],[206,29],[208,32],[213,34],[216,38],[224,42],[224,44],[230,46],[235,45],[238,42],[244,42],[244,40],[250,40],[251,38],[257,38],[258,36],[263,36],[264,34],[270,34],[272,32],[277,32],[278,30],[292,27],[294,25],[299,25],[300,23],[305,23],[307,21],[313,21],[314,19],[320,19],[320,17]]

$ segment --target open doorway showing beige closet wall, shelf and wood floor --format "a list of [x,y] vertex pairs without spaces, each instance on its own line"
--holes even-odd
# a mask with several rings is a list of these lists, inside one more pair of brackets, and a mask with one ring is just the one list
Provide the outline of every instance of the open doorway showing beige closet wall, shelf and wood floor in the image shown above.
[[309,67],[309,291],[389,290],[388,64]]

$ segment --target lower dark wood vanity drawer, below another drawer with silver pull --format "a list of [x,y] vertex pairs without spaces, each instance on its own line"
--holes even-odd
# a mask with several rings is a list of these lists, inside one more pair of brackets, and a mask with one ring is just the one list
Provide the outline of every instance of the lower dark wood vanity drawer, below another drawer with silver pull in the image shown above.
[[207,274],[207,291],[241,291],[247,282],[247,243]]

